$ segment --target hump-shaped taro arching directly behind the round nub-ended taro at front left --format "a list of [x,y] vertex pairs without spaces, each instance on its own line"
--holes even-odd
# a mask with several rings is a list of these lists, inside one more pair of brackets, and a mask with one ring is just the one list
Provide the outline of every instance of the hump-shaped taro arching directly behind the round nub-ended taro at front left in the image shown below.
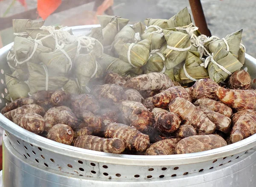
[[55,106],[49,109],[44,115],[44,121],[46,132],[56,124],[65,124],[75,129],[78,123],[76,115],[67,106]]

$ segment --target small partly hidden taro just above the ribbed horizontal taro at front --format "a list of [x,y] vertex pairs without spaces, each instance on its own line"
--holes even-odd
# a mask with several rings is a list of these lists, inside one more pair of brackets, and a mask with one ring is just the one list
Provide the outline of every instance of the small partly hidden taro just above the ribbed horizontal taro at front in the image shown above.
[[90,127],[93,130],[93,134],[99,134],[102,131],[102,117],[94,115],[89,110],[84,111],[82,117],[84,121],[79,125],[79,128]]

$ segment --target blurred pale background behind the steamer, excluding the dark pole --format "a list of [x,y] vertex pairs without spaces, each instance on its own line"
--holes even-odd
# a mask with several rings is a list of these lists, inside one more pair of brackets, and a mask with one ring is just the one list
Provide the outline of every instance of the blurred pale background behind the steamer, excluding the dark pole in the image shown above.
[[[57,2],[58,0],[45,1]],[[107,13],[128,18],[131,24],[148,17],[169,19],[186,6],[191,13],[189,0],[111,1],[113,5]],[[38,2],[39,0],[0,0],[0,48],[13,41],[11,24],[13,17],[39,18],[36,11]],[[225,37],[231,32],[244,29],[242,40],[246,46],[246,52],[256,57],[255,0],[201,0],[201,3],[212,35]],[[100,4],[100,0],[96,0],[96,3],[95,0],[62,0],[59,7],[61,9],[57,9],[57,13],[55,11],[47,17],[45,25],[75,26],[96,23],[94,18],[97,6]]]

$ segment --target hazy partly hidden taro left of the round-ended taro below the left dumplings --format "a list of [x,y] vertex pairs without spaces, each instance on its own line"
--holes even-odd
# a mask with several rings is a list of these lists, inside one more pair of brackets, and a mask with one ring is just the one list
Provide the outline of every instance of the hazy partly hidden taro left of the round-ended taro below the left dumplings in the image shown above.
[[44,107],[47,111],[49,108],[52,108],[51,97],[54,91],[38,91],[31,96],[35,100],[35,103]]

